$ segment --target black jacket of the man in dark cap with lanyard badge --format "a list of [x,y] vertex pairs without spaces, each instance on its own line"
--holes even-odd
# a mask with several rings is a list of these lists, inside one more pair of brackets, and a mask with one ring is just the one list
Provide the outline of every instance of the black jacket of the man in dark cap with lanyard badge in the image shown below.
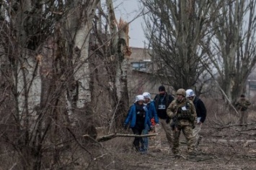
[[[156,113],[159,118],[167,119],[167,108],[170,103],[172,103],[172,100],[175,98],[172,97],[172,95],[169,95],[168,93],[165,93],[164,95],[157,94],[154,98],[155,100],[155,106],[156,106]],[[159,105],[165,105],[165,109],[159,109]]]

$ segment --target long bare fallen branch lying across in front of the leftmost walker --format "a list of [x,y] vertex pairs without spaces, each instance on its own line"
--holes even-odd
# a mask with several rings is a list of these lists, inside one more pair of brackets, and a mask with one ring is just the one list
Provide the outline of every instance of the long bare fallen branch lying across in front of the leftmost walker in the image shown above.
[[[103,142],[103,141],[108,141],[112,138],[116,137],[126,137],[126,138],[133,138],[133,137],[139,137],[139,138],[144,138],[144,137],[150,137],[150,136],[156,136],[158,133],[151,133],[147,135],[133,135],[133,134],[123,134],[123,133],[111,133],[106,136],[100,136],[99,138],[96,138],[95,141],[97,142]],[[83,137],[90,137],[89,135],[84,135]]]

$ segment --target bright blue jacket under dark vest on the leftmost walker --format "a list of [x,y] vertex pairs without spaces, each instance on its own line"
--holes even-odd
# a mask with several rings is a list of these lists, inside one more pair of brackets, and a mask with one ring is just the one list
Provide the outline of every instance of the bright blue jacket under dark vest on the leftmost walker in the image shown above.
[[[143,107],[143,105],[142,105]],[[145,111],[145,119],[144,119],[144,128],[146,127],[146,124],[151,127],[151,122],[149,120],[149,112],[147,109],[144,110]],[[138,120],[136,120],[136,113],[138,113],[138,110],[136,109],[136,103],[134,103],[133,105],[131,105],[129,111],[128,111],[128,115],[125,119],[125,125],[128,125],[128,123],[130,123],[130,128],[134,128],[136,126],[136,123],[138,123]]]

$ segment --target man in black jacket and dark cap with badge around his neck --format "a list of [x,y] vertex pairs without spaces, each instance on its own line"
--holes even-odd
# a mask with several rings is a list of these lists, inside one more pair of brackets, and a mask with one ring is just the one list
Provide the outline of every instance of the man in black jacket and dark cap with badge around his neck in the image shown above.
[[159,135],[155,138],[156,148],[154,151],[161,151],[162,139],[160,133],[162,129],[164,129],[166,133],[169,148],[172,148],[172,128],[169,125],[170,119],[167,116],[167,108],[169,104],[172,103],[172,100],[174,100],[174,98],[165,91],[165,87],[163,85],[159,86],[159,94],[154,98],[156,113],[159,118],[159,123],[156,123],[155,126],[155,131]]

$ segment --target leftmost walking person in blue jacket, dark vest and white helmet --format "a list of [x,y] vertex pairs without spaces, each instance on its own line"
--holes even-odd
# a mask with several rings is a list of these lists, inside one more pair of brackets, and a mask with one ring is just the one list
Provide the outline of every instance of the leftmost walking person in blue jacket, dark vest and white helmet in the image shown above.
[[[135,135],[141,135],[142,131],[146,128],[146,126],[151,127],[151,122],[149,120],[149,112],[144,106],[144,96],[137,95],[135,103],[131,105],[128,110],[128,115],[125,118],[124,128],[128,128],[128,124],[130,123],[130,128]],[[135,137],[133,141],[133,147],[136,151],[144,152],[144,142],[141,142],[141,137]],[[141,146],[140,146],[141,144]]]

